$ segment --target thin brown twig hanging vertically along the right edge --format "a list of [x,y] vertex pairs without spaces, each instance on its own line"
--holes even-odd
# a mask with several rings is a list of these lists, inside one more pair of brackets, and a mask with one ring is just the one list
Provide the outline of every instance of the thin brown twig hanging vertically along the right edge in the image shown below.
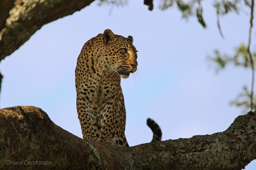
[[249,29],[249,40],[248,40],[248,47],[247,51],[250,57],[251,61],[251,66],[252,66],[252,90],[251,90],[251,110],[254,108],[254,102],[253,102],[253,86],[254,86],[254,61],[252,58],[252,54],[250,51],[250,46],[251,46],[251,36],[252,36],[252,26],[253,26],[253,10],[254,10],[254,0],[252,0],[252,6],[251,6],[251,19],[250,19],[250,29]]

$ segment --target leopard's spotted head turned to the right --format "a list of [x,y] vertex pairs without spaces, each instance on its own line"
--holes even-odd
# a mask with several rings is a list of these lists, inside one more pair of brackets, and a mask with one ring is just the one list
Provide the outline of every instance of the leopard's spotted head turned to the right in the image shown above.
[[137,51],[132,42],[132,36],[125,38],[115,35],[110,29],[106,29],[103,33],[106,67],[117,72],[124,79],[137,70]]

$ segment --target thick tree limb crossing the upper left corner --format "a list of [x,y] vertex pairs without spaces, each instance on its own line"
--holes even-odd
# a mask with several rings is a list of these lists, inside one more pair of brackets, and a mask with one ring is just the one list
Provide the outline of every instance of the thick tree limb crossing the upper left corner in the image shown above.
[[94,0],[0,1],[0,61],[17,50],[43,25],[73,14]]

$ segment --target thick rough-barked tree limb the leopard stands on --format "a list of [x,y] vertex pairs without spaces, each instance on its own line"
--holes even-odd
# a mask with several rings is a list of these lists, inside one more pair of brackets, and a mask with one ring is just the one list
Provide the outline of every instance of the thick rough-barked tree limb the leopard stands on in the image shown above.
[[[253,159],[256,112],[238,116],[222,133],[122,148],[76,137],[56,126],[40,108],[0,109],[0,169],[238,170]],[[50,163],[24,165],[40,161]]]

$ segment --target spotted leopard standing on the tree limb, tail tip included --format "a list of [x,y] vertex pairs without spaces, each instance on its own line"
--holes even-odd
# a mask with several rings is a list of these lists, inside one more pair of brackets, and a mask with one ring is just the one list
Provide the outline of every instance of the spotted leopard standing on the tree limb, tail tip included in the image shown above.
[[[138,51],[132,43],[132,36],[125,38],[105,29],[83,45],[75,68],[76,108],[83,139],[129,147],[120,81],[137,70]],[[161,141],[158,124],[148,118],[147,125],[153,132],[151,142]]]

